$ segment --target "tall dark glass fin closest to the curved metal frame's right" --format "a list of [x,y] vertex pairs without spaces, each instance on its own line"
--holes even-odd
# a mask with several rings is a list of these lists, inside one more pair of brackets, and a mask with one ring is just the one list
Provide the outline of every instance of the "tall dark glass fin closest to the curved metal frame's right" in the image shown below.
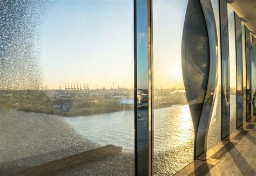
[[221,104],[222,104],[222,125],[221,138],[230,135],[230,84],[229,84],[229,58],[228,58],[228,19],[227,3],[220,0],[220,34],[221,34]]

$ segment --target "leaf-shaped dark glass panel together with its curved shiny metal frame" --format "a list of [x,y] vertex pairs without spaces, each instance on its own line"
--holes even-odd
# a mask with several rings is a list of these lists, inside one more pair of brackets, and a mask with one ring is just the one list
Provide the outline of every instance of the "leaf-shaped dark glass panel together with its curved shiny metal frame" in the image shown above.
[[[202,10],[203,9],[203,10]],[[218,79],[218,43],[210,0],[189,1],[183,30],[182,68],[194,132],[194,159],[206,158]]]

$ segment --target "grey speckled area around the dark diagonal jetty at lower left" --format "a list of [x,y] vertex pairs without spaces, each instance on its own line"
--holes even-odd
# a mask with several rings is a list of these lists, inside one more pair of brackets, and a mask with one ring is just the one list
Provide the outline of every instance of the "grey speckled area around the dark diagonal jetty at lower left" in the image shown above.
[[[16,110],[0,110],[0,114],[0,175],[21,172],[101,146],[80,135],[59,116],[51,115],[53,118],[49,118],[47,114]],[[132,152],[122,150],[114,156],[85,163],[63,173],[92,175],[105,172],[111,175],[114,171],[129,175],[134,168],[133,158]],[[107,170],[109,167],[113,168],[112,172]]]

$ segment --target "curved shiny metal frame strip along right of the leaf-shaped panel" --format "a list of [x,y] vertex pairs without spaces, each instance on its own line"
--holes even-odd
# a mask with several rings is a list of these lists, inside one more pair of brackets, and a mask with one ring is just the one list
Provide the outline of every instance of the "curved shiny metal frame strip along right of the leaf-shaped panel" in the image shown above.
[[217,41],[217,30],[215,26],[215,18],[213,15],[212,4],[210,0],[203,1],[200,0],[209,38],[210,47],[210,69],[208,76],[208,85],[205,95],[204,107],[201,113],[199,125],[198,125],[198,135],[197,135],[197,152],[196,157],[199,159],[206,159],[206,142],[207,133],[209,125],[211,122],[213,104],[215,101],[217,80],[218,80],[218,41]]

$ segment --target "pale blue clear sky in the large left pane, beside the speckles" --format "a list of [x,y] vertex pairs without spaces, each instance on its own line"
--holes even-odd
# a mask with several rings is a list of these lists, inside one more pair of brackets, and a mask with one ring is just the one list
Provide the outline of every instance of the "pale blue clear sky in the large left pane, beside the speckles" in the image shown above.
[[60,1],[45,18],[41,43],[49,88],[133,87],[132,1]]

